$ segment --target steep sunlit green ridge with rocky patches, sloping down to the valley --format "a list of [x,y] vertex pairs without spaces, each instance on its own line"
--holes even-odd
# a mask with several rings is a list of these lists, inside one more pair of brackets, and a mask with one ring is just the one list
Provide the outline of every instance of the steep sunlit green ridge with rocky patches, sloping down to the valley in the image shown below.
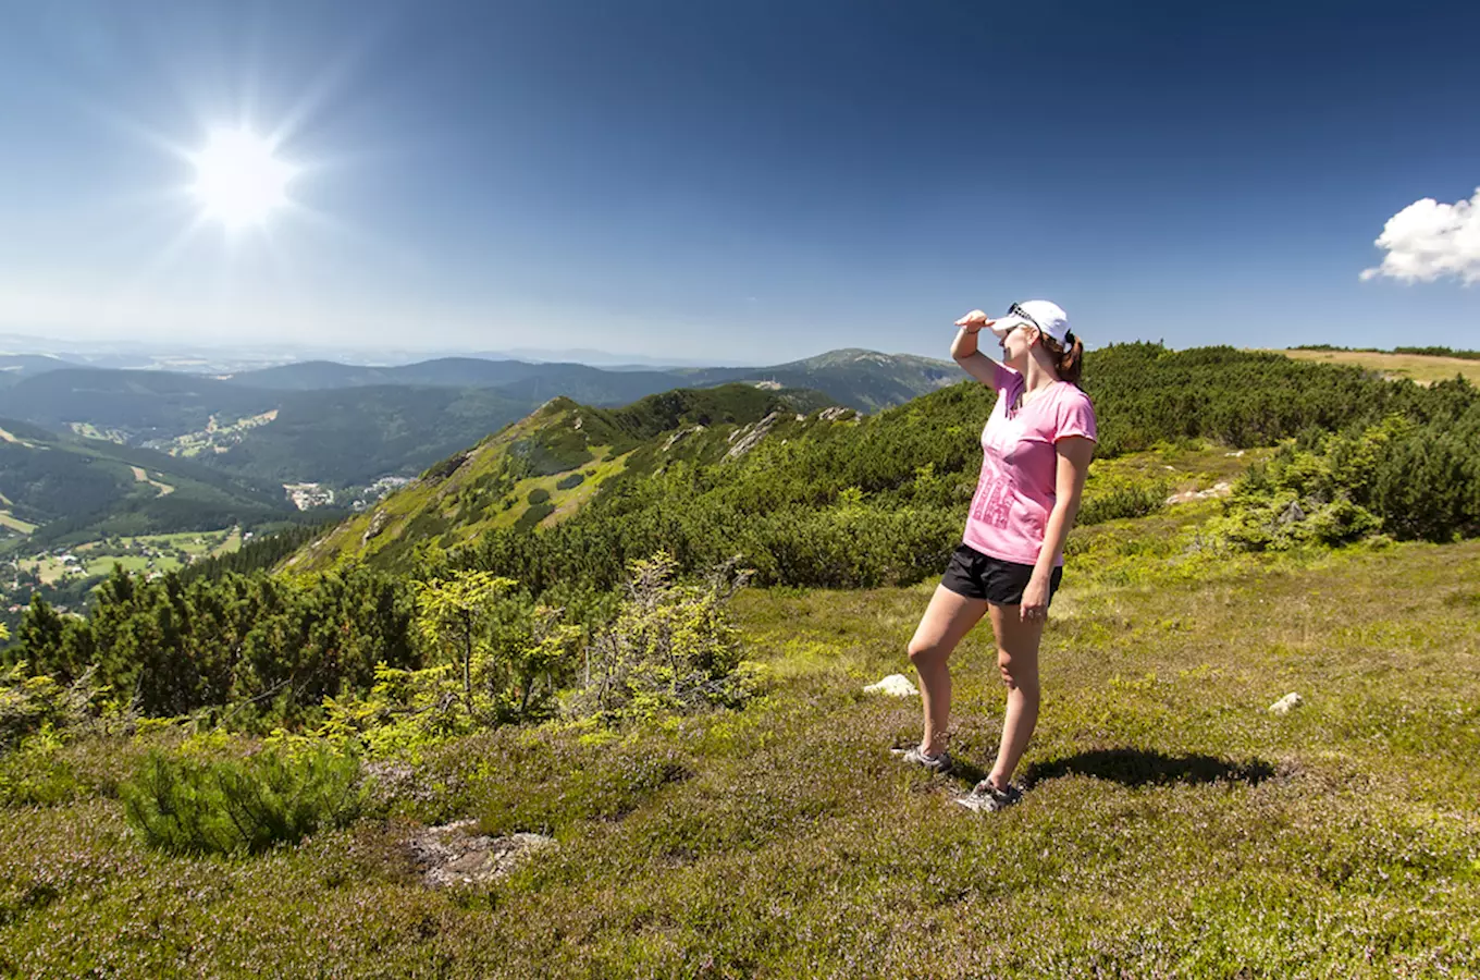
[[[549,527],[574,514],[608,481],[662,472],[676,460],[713,460],[764,420],[795,432],[830,400],[807,391],[749,385],[676,389],[625,409],[554,398],[528,417],[431,466],[366,514],[289,561],[326,568],[345,558],[380,564],[410,557],[408,545],[468,545],[491,528]],[[802,417],[799,417],[802,416]]]

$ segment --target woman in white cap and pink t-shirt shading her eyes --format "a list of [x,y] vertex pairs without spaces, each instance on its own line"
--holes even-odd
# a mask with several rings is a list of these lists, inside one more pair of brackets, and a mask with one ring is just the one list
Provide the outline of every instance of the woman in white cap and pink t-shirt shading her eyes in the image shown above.
[[[992,385],[998,403],[981,432],[981,477],[962,543],[910,640],[925,702],[925,737],[900,755],[940,773],[950,768],[946,660],[990,611],[998,668],[1008,687],[1002,745],[992,773],[958,802],[1000,810],[1021,798],[1009,780],[1037,722],[1037,647],[1094,454],[1095,412],[1079,389],[1083,345],[1055,303],[1014,303],[999,320],[974,309],[956,326],[961,332],[950,355],[968,375]],[[998,338],[1000,364],[977,349],[983,327]]]

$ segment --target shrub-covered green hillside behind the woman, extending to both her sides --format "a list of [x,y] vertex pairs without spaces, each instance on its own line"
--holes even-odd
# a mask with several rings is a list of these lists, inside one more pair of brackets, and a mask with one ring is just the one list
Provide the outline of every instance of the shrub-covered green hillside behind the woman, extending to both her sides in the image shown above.
[[[1465,382],[1422,388],[1279,354],[1135,343],[1094,351],[1085,383],[1100,415],[1100,462],[1080,524],[1150,514],[1172,493],[1220,481],[1227,491],[1248,462],[1268,456],[1261,447],[1295,437],[1322,456],[1282,460],[1270,483],[1251,490],[1251,524],[1240,531],[1249,540],[1294,502],[1301,521],[1271,540],[1359,537],[1384,521],[1396,536],[1443,540],[1480,523],[1480,457],[1468,435],[1480,426],[1480,397]],[[556,401],[474,450],[466,471],[450,463],[445,474],[456,478],[434,468],[293,567],[357,557],[410,568],[435,545],[451,549],[453,564],[508,574],[534,592],[573,579],[604,591],[628,563],[663,548],[688,570],[739,554],[765,583],[907,585],[938,574],[959,539],[993,398],[965,382],[857,423],[793,419],[740,459],[709,449],[718,449],[718,432],[696,441],[688,457],[682,441],[667,446],[670,435],[636,446],[596,426],[577,432],[577,415],[595,419],[595,410]],[[1407,419],[1403,438],[1368,434],[1387,417]],[[1320,432],[1348,435],[1322,447],[1311,441]],[[522,459],[525,468],[503,468],[505,444],[530,453],[524,447],[540,438],[579,453],[543,468]],[[684,465],[656,462],[675,450]],[[1171,456],[1119,462],[1148,450]],[[625,471],[644,480],[605,486]]]

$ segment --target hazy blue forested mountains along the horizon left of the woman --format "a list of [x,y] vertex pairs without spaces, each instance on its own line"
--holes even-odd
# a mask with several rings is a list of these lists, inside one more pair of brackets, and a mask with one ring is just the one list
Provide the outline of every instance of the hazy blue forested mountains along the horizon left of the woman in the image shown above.
[[62,367],[0,386],[0,416],[195,454],[232,474],[349,487],[414,475],[551,398],[617,407],[741,382],[876,412],[962,377],[944,361],[863,349],[770,367],[669,370],[466,357],[397,367],[305,361],[222,377]]

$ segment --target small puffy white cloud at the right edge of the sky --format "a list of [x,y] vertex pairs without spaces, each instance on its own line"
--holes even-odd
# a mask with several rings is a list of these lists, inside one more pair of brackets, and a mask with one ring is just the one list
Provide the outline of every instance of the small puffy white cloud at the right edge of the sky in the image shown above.
[[1413,201],[1388,218],[1375,244],[1387,255],[1382,265],[1363,269],[1365,280],[1385,275],[1433,283],[1453,275],[1465,284],[1480,283],[1480,188],[1468,201]]

